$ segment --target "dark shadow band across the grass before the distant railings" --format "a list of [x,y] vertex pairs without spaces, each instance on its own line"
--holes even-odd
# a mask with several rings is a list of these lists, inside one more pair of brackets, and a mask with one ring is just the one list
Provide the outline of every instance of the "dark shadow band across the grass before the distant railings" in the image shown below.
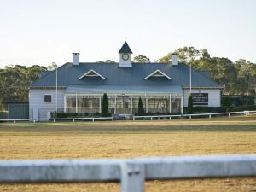
[[256,132],[256,125],[7,125],[0,127],[3,135],[55,136],[79,134],[154,134],[182,131],[251,131]]

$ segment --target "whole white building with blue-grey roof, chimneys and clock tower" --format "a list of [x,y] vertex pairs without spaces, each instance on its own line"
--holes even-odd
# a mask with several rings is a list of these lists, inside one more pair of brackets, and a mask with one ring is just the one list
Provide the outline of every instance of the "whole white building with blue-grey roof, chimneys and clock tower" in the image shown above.
[[[146,113],[183,113],[190,93],[190,67],[172,62],[133,63],[128,44],[119,50],[119,63],[73,62],[44,72],[29,91],[30,118],[46,118],[50,112],[101,113],[102,96],[108,95],[109,112],[137,113],[139,97]],[[57,85],[57,86],[56,86]],[[57,87],[57,89],[56,89]],[[191,70],[195,105],[219,107],[222,86],[206,72]]]

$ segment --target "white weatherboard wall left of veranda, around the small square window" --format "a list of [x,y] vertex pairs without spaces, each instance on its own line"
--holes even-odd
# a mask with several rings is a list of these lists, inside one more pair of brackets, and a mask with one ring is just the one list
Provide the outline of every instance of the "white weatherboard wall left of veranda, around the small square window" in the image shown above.
[[[44,95],[51,95],[51,102],[44,102]],[[64,108],[64,90],[58,90],[58,108]],[[56,90],[29,90],[29,118],[48,118],[56,109]]]

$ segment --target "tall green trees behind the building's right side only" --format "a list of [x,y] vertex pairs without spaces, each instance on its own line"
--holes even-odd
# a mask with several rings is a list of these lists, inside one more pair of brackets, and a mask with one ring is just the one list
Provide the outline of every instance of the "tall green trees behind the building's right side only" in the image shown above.
[[207,49],[183,47],[160,58],[158,62],[170,62],[172,54],[191,64],[199,71],[207,71],[212,79],[224,85],[224,95],[255,96],[256,64],[246,60],[232,62],[229,58],[211,57]]

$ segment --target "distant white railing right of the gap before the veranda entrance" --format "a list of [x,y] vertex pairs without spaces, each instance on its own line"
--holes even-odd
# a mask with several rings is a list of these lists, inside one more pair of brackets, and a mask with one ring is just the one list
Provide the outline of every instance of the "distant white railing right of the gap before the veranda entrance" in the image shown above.
[[240,111],[240,112],[224,112],[224,113],[196,113],[196,114],[175,114],[175,115],[145,115],[145,116],[133,116],[133,120],[136,119],[161,119],[161,118],[168,118],[172,119],[175,117],[183,118],[183,117],[189,117],[189,119],[192,119],[192,117],[196,116],[208,116],[209,118],[212,118],[213,115],[228,115],[230,118],[231,114],[245,114],[249,115],[250,113],[256,113],[256,111]]

